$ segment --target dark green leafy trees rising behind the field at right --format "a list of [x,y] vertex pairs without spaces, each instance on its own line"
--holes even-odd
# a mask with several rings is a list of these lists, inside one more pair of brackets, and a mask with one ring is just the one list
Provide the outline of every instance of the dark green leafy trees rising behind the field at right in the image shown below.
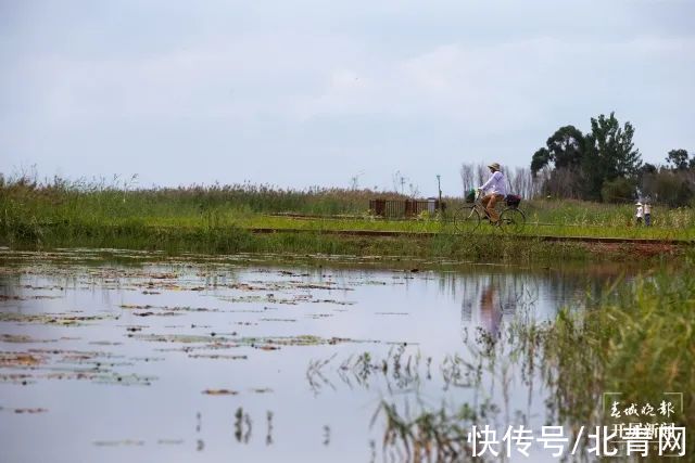
[[591,131],[560,127],[531,158],[539,192],[606,203],[649,200],[670,206],[695,200],[695,156],[671,150],[666,164],[643,164],[632,138],[634,127],[615,116],[591,118]]

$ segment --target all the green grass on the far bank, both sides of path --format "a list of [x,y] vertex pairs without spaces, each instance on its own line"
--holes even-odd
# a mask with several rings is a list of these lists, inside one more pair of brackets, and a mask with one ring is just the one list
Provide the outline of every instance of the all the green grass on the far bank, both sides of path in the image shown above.
[[[20,247],[123,247],[204,253],[291,252],[389,254],[448,258],[586,257],[580,246],[534,243],[521,248],[514,239],[483,223],[473,235],[452,236],[446,221],[422,216],[383,220],[368,216],[368,200],[403,197],[368,190],[274,189],[267,185],[188,187],[130,190],[127,183],[39,183],[0,176],[0,244]],[[451,207],[456,200],[448,198]],[[522,203],[527,235],[582,235],[695,239],[691,209],[654,208],[654,227],[632,224],[632,206],[577,201]],[[451,210],[451,209],[450,209]],[[299,219],[270,214],[321,217]],[[326,216],[330,218],[326,218]],[[338,216],[338,217],[337,217]],[[354,239],[318,233],[257,235],[248,229],[379,230],[431,232],[429,239]],[[409,254],[406,254],[409,253]]]

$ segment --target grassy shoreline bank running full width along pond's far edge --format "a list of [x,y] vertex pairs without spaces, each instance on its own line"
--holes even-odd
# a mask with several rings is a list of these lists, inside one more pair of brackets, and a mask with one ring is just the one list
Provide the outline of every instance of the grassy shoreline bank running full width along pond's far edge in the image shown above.
[[690,240],[594,236],[467,235],[433,232],[247,229],[226,227],[157,227],[141,221],[121,224],[56,223],[8,230],[0,245],[14,249],[50,250],[61,247],[219,254],[320,254],[395,256],[400,258],[527,263],[554,261],[636,261],[682,256],[693,249]]

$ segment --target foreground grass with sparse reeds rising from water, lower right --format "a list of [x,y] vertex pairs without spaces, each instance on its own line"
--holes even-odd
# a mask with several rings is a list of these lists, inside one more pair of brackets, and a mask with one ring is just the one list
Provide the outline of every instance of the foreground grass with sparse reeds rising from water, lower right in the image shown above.
[[[523,384],[546,388],[546,422],[563,424],[577,435],[580,426],[629,422],[662,422],[656,419],[610,417],[610,404],[654,404],[665,393],[682,393],[673,400],[675,413],[668,421],[684,426],[692,455],[695,438],[695,260],[686,259],[681,271],[660,270],[632,282],[618,281],[598,298],[586,296],[581,310],[561,310],[551,322],[509,324],[500,338],[478,339],[479,359],[473,371],[495,374],[504,361],[520,366]],[[496,366],[495,366],[496,365]],[[534,371],[536,374],[534,375]],[[542,384],[533,384],[534,377]],[[480,380],[475,387],[484,387]],[[608,396],[604,393],[620,393]],[[386,423],[384,453],[405,455],[403,461],[466,461],[471,454],[467,432],[489,422],[494,406],[422,409],[415,416],[384,401],[380,415]],[[507,423],[515,426],[520,423]],[[506,424],[505,424],[506,426]],[[584,435],[585,437],[585,435]],[[572,440],[573,441],[573,440]],[[593,442],[584,440],[592,447]],[[624,455],[624,449],[622,451]],[[656,450],[652,449],[650,455]],[[688,454],[688,453],[686,453]]]

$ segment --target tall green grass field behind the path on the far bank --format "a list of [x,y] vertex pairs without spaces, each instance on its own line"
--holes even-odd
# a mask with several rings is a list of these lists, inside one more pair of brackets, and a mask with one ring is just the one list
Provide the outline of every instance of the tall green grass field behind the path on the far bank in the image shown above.
[[[438,217],[422,216],[417,220],[401,221],[370,218],[367,215],[368,204],[375,197],[403,196],[369,190],[286,190],[248,183],[134,189],[134,179],[67,181],[54,178],[39,182],[26,176],[13,179],[0,176],[0,242],[43,246],[94,243],[109,247],[143,247],[150,243],[147,245],[149,248],[172,246],[173,242],[182,244],[186,236],[198,240],[197,235],[211,233],[219,236],[225,233],[239,235],[242,232],[240,229],[248,228],[447,231],[446,222]],[[446,201],[450,210],[462,204],[459,198]],[[530,235],[695,237],[695,213],[691,209],[657,206],[653,214],[655,226],[647,229],[634,227],[630,205],[531,201],[523,202],[522,208],[529,221],[523,233]],[[287,211],[333,218],[298,220],[268,215]],[[336,216],[341,217],[336,219]],[[167,230],[173,228],[180,230]],[[488,235],[490,243],[497,241],[500,235],[498,230],[486,224],[477,234]],[[164,241],[153,242],[152,236],[160,236]],[[222,239],[211,240],[218,243]],[[208,243],[211,240],[202,242]],[[479,240],[465,236],[465,241],[475,246]],[[251,242],[254,241],[247,236],[239,245],[213,247],[227,250],[249,248],[253,247],[249,244]],[[454,246],[456,240],[439,240],[438,243]],[[195,244],[195,247],[200,246]]]

